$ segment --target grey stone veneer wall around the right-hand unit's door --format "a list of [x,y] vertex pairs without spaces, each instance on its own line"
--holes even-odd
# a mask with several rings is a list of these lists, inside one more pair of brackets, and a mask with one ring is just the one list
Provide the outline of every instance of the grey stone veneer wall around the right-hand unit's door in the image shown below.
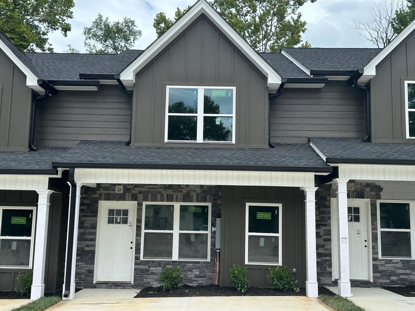
[[[377,200],[381,199],[382,187],[369,182],[350,183],[355,185],[355,191],[349,191],[349,195],[356,199],[370,199],[373,269],[373,282],[352,280],[352,286],[413,285],[415,260],[379,259]],[[316,192],[317,281],[320,285],[337,285],[331,276],[331,197],[336,197],[336,190],[331,189],[331,185],[323,185]]]

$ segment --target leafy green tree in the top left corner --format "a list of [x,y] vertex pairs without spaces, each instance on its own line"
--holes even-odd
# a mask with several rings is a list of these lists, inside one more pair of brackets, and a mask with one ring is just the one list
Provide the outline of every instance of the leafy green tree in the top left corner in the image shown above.
[[0,31],[22,52],[53,52],[48,34],[71,31],[73,0],[0,0]]

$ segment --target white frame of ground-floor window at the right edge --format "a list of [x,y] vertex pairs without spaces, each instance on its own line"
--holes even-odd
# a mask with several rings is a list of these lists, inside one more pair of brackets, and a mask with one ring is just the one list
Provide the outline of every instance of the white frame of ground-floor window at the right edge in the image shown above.
[[[410,217],[410,229],[389,229],[380,228],[380,203],[407,203],[409,204],[409,217]],[[378,249],[379,259],[400,259],[400,260],[412,260],[415,259],[415,201],[401,201],[401,200],[377,200],[377,213],[378,213]],[[392,231],[392,232],[410,232],[411,233],[411,257],[382,257],[382,244],[380,239],[380,232]]]

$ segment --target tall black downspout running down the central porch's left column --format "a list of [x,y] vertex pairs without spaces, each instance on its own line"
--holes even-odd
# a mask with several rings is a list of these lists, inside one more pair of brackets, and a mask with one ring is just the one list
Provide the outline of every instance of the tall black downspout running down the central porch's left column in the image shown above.
[[66,271],[65,271],[65,292],[63,297],[69,297],[71,292],[71,275],[72,275],[72,253],[73,253],[73,229],[75,227],[75,208],[76,208],[76,183],[75,183],[75,169],[69,169],[69,183],[71,185],[71,200],[69,204],[69,219],[68,219],[68,245],[66,252]]

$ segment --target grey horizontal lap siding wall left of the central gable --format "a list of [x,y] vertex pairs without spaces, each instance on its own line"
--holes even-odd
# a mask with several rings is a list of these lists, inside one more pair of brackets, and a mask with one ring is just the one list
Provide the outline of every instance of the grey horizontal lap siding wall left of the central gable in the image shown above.
[[36,110],[37,146],[129,139],[131,97],[118,85],[101,85],[97,91],[59,90],[39,101]]

